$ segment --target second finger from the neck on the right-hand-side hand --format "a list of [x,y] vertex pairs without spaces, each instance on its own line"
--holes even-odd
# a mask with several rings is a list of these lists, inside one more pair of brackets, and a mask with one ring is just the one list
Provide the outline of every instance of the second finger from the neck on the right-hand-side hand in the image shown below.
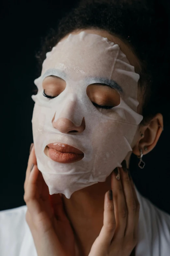
[[115,168],[111,174],[111,187],[113,191],[113,203],[116,219],[114,241],[118,240],[120,242],[124,237],[124,231],[126,228],[127,208],[120,179],[120,170],[118,167]]

